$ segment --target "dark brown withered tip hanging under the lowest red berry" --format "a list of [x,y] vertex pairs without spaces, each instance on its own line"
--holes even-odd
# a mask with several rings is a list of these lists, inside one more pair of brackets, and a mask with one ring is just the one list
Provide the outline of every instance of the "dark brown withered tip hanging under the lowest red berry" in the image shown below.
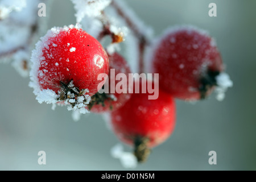
[[150,148],[147,147],[150,141],[147,137],[135,137],[134,139],[134,155],[136,156],[139,163],[146,162],[148,156],[151,153]]

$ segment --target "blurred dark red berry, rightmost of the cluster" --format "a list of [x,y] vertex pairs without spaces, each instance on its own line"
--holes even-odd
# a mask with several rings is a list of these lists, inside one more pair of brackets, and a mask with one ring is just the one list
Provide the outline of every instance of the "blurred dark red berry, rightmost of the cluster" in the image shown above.
[[159,87],[183,100],[208,96],[216,85],[216,76],[224,69],[213,38],[193,27],[168,30],[153,55]]

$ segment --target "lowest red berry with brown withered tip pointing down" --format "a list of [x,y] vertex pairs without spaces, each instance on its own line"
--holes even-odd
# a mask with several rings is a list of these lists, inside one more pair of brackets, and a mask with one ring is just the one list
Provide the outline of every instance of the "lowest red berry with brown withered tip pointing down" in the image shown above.
[[[140,85],[145,86],[146,82]],[[147,147],[164,142],[175,127],[174,99],[161,90],[156,100],[148,100],[148,95],[134,93],[125,105],[111,113],[114,133],[123,142],[134,145],[139,162],[146,159]]]

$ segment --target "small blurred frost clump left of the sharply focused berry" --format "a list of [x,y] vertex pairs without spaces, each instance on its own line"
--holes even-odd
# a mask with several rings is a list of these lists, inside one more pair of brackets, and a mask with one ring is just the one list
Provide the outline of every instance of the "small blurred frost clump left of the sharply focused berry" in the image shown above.
[[22,77],[27,77],[29,75],[29,67],[30,67],[30,57],[27,51],[20,50],[16,52],[13,56],[13,67]]

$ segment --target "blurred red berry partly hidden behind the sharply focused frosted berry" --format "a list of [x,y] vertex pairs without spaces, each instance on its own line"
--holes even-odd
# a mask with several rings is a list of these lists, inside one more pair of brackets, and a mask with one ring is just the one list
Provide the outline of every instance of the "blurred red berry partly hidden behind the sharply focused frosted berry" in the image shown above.
[[[110,93],[112,85],[115,87],[119,81],[115,81],[115,77],[119,73],[124,73],[126,77],[129,77],[130,67],[127,64],[126,60],[119,55],[118,53],[114,53],[113,55],[109,55],[109,68],[110,70],[115,71],[114,80],[110,79],[110,71],[109,71],[109,92],[108,93],[96,93],[92,96],[89,107],[90,111],[93,113],[104,113],[106,111],[114,111],[121,107],[127,100],[130,98],[130,94],[128,93],[128,79],[127,79],[127,92],[126,93]],[[106,85],[106,83],[105,83]]]

